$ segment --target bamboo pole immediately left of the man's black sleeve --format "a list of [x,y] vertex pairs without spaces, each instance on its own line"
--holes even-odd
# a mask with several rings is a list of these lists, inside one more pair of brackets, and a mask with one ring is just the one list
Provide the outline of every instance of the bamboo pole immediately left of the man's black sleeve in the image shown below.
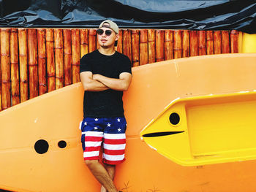
[[71,30],[72,46],[72,83],[80,82],[80,31]]

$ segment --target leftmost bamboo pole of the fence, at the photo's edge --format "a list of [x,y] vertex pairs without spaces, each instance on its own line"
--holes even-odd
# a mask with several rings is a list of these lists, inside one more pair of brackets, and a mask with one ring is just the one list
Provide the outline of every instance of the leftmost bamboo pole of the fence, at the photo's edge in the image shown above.
[[11,107],[10,28],[1,28],[1,108]]

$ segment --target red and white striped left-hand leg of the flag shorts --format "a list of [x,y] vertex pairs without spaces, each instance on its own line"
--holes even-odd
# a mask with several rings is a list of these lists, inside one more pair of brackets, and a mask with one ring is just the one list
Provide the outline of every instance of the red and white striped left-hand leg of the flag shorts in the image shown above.
[[82,134],[85,135],[86,150],[83,152],[84,160],[97,160],[99,159],[99,150],[102,145],[103,132],[86,131]]

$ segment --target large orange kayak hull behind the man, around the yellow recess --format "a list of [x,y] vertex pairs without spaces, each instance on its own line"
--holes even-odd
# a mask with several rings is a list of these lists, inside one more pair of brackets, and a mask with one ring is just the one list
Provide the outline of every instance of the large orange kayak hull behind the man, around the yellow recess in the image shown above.
[[[127,160],[116,168],[114,182],[118,189],[255,191],[255,160],[183,166],[141,139],[148,123],[177,98],[254,91],[255,61],[253,53],[223,54],[162,61],[132,69],[132,84],[123,98],[128,124]],[[99,191],[99,183],[83,162],[78,128],[82,118],[80,83],[0,112],[0,188]]]

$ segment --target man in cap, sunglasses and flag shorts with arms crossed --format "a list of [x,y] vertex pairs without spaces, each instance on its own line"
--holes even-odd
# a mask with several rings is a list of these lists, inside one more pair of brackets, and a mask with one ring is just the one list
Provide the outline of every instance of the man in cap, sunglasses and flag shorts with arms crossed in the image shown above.
[[[116,23],[103,21],[97,30],[97,39],[99,50],[80,60],[80,79],[85,90],[81,123],[83,156],[91,173],[102,184],[101,192],[116,192],[113,183],[116,164],[125,159],[127,122],[122,96],[132,80],[131,62],[115,50]],[[99,163],[101,145],[104,166]]]

